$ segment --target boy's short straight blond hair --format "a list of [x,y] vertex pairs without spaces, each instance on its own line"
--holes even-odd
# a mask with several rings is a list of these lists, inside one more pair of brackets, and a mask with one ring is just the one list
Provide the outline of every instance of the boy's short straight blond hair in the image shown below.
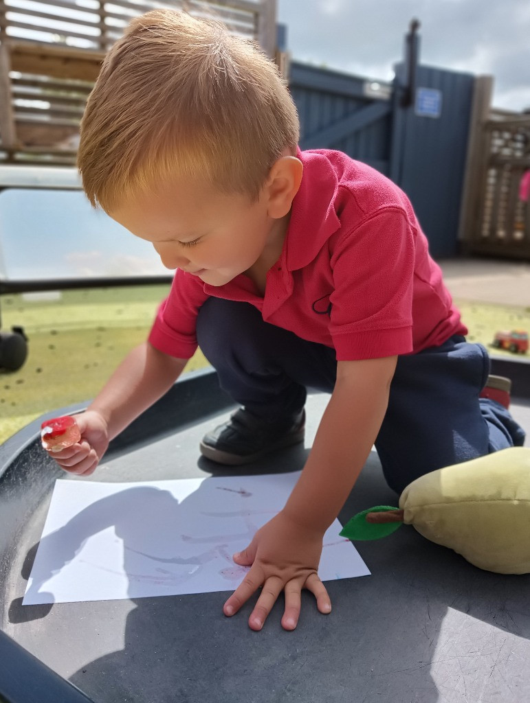
[[284,80],[253,42],[215,20],[155,10],[106,56],[77,165],[90,202],[107,212],[174,177],[255,199],[298,130]]

